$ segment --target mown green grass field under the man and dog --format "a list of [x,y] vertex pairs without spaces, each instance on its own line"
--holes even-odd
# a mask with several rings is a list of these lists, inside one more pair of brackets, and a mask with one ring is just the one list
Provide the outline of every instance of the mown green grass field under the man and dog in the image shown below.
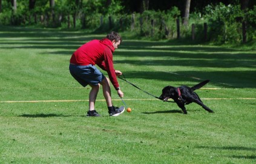
[[68,64],[76,48],[104,36],[0,27],[0,163],[256,163],[255,50],[123,36],[114,65],[127,80],[159,96],[166,85],[210,79],[196,92],[215,113],[192,103],[182,114],[119,80],[133,111],[108,117],[100,91],[103,117],[88,118],[90,88]]

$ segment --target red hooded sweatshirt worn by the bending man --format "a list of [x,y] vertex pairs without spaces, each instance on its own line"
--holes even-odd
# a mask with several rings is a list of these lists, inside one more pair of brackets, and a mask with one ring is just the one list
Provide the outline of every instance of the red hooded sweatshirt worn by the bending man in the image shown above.
[[102,70],[107,71],[108,77],[114,88],[118,88],[116,73],[113,65],[113,43],[104,38],[93,40],[79,47],[71,56],[70,63],[75,65],[98,65]]

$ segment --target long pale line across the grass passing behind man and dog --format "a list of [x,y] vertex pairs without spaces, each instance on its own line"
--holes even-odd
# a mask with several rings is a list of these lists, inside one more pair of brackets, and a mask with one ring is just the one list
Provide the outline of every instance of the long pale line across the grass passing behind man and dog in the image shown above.
[[[120,99],[112,99],[113,101],[120,101]],[[158,100],[158,99],[123,99],[123,100]],[[256,98],[202,98],[202,100],[256,100]],[[23,102],[88,102],[89,100],[20,100],[20,101],[0,101],[0,103],[23,103]],[[105,101],[99,99],[97,101]]]

